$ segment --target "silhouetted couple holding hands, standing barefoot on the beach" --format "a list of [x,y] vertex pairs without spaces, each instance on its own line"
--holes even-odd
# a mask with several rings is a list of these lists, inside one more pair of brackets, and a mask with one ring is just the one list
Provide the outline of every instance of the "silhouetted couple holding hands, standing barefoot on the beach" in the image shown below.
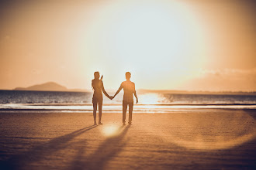
[[133,94],[137,99],[138,103],[138,97],[135,90],[135,83],[130,81],[130,72],[126,72],[126,81],[123,81],[121,83],[121,86],[116,91],[114,96],[109,96],[108,93],[106,93],[106,90],[104,89],[102,78],[99,79],[99,72],[94,73],[94,80],[92,80],[92,89],[94,90],[93,97],[92,97],[92,104],[93,104],[93,117],[94,117],[94,124],[96,125],[96,111],[97,111],[97,105],[99,104],[99,124],[102,124],[102,92],[106,95],[106,97],[109,97],[109,99],[113,99],[116,97],[116,95],[119,93],[120,90],[123,89],[123,125],[126,124],[126,110],[127,106],[129,106],[129,124],[132,124],[132,114],[133,114]]

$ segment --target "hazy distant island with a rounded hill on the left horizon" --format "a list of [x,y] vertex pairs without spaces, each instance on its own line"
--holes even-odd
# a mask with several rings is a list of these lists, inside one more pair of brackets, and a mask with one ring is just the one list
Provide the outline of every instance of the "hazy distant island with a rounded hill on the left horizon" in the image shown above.
[[42,84],[36,84],[31,87],[16,87],[13,90],[31,90],[31,91],[85,91],[82,89],[67,89],[67,87],[61,86],[55,82],[47,82]]

